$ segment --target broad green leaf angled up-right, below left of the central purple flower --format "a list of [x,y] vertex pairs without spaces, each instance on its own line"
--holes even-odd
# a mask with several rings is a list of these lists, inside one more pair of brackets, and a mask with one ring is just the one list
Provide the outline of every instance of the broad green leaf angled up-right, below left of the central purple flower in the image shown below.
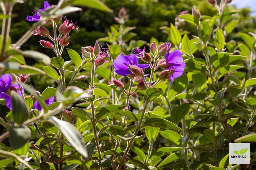
[[126,107],[125,105],[120,105],[120,104],[111,104],[111,105],[102,107],[100,111],[96,113],[95,118],[97,119],[97,121],[99,121],[114,113],[121,111],[125,107]]

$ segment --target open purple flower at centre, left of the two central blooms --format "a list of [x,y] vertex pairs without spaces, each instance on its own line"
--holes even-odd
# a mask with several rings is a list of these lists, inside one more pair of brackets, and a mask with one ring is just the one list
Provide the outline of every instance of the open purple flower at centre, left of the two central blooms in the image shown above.
[[123,56],[117,56],[116,60],[113,62],[114,70],[119,75],[128,75],[132,73],[128,66],[138,66],[141,69],[146,69],[149,67],[149,64],[139,64],[139,58],[136,54]]

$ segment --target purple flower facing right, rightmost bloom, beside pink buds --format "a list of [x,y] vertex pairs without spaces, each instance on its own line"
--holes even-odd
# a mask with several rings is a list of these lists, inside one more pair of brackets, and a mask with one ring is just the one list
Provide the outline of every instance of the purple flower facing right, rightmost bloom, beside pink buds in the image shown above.
[[165,55],[165,61],[171,64],[167,69],[175,69],[174,73],[170,77],[170,80],[173,82],[174,78],[178,78],[182,75],[186,64],[183,61],[182,54],[179,50],[175,50],[171,53],[169,53],[169,50],[167,50]]

